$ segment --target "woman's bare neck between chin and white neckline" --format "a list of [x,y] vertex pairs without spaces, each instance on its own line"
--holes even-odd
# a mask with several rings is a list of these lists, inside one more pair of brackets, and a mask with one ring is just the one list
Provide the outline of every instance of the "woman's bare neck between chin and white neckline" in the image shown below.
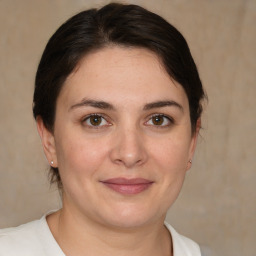
[[163,220],[133,228],[111,227],[81,218],[64,207],[47,221],[66,255],[172,255],[171,236]]

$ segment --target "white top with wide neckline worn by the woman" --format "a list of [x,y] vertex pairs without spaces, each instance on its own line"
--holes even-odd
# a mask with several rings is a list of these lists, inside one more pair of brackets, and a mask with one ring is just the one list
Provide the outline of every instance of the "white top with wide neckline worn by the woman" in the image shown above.
[[[199,246],[165,223],[173,241],[173,256],[201,256]],[[15,228],[0,230],[0,256],[65,256],[54,239],[46,216]]]

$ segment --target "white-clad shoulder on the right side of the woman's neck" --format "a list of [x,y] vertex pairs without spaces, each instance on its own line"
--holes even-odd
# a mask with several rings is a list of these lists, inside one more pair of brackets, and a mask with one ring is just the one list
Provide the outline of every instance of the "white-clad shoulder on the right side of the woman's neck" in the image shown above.
[[173,256],[201,256],[199,245],[191,239],[180,235],[170,224],[165,222],[173,243]]

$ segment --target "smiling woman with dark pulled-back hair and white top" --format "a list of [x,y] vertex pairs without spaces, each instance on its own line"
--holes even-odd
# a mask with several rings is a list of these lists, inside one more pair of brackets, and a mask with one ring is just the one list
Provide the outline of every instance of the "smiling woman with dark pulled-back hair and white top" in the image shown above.
[[49,40],[34,117],[62,209],[0,255],[200,255],[165,223],[191,167],[204,91],[183,36],[136,5],[81,12]]

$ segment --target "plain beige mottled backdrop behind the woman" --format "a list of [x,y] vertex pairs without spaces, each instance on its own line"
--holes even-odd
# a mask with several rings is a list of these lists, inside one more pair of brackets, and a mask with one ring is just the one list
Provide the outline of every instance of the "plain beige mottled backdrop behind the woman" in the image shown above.
[[[32,117],[47,40],[110,1],[0,0],[0,228],[60,207]],[[167,220],[204,255],[256,255],[256,1],[134,0],[185,36],[209,97],[193,167]]]

